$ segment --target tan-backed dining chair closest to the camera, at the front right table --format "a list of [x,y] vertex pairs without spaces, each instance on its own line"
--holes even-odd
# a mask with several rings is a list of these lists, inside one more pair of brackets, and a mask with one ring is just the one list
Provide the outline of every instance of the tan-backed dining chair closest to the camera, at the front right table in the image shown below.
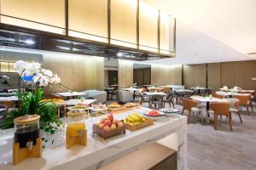
[[232,131],[232,124],[230,118],[230,102],[224,103],[212,103],[210,109],[213,111],[214,129],[217,130],[218,116],[226,116],[230,124],[230,130]]

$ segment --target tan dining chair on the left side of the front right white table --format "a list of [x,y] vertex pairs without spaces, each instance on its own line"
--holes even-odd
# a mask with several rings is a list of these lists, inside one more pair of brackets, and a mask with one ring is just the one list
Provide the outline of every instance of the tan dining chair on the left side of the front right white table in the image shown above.
[[[193,99],[183,98],[183,111],[189,111],[188,122],[191,122],[191,113],[192,111],[197,112],[198,115],[201,115],[201,109],[197,107],[197,102]],[[183,115],[182,111],[182,115]]]

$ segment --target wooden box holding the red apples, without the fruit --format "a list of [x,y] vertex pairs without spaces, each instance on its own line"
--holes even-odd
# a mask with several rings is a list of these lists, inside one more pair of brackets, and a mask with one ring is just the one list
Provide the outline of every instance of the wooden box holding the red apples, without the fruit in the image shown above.
[[103,139],[108,139],[109,137],[112,137],[119,133],[125,133],[125,124],[123,127],[117,127],[115,129],[111,129],[109,131],[105,131],[100,127],[97,127],[96,124],[92,126],[92,132],[98,134]]

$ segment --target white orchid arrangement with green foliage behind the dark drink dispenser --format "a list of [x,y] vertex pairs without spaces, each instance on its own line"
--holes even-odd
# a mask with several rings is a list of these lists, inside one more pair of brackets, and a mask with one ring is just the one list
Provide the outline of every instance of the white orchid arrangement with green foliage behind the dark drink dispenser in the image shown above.
[[[52,71],[46,70],[37,62],[26,62],[19,60],[14,65],[15,71],[19,74],[18,80],[18,108],[15,111],[9,111],[0,120],[0,128],[9,128],[14,126],[15,117],[24,115],[38,114],[41,116],[40,128],[44,133],[54,134],[58,127],[61,127],[56,110],[57,107],[51,100],[42,101],[44,87],[49,83],[67,88],[61,84],[61,78]],[[25,89],[25,77],[32,77],[32,88],[28,91]],[[68,88],[70,90],[70,88]],[[53,143],[53,141],[52,141]]]

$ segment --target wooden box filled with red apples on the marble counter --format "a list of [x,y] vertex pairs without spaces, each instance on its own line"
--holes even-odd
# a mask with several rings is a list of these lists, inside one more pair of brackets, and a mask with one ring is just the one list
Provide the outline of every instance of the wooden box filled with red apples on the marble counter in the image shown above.
[[93,125],[92,131],[103,139],[108,139],[116,134],[125,133],[125,126],[123,122],[113,119],[112,114],[108,114],[101,119],[101,122]]

